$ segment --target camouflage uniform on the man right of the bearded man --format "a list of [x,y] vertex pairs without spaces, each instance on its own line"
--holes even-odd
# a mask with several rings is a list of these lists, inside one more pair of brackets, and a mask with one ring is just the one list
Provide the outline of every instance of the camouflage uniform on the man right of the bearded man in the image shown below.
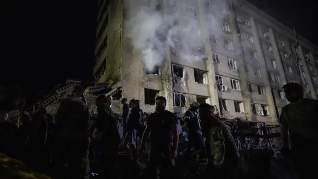
[[[209,160],[207,173],[216,178],[232,179],[238,169],[239,150],[231,131],[221,120],[215,118],[205,129],[206,154]],[[217,172],[215,172],[217,171]]]

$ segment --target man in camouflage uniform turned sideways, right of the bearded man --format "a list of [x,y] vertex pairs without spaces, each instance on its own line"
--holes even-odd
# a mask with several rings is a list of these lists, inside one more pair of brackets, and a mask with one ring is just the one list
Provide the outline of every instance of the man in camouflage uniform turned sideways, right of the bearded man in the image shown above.
[[231,131],[220,119],[214,117],[214,106],[200,104],[199,115],[204,119],[203,132],[206,136],[207,178],[234,179],[239,165],[239,150]]

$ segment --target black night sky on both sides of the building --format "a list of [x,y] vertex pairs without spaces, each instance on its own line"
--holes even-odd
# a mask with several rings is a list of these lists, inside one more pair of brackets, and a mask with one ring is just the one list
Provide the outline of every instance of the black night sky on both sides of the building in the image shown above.
[[[1,83],[50,90],[66,79],[92,80],[97,0],[42,1],[6,1]],[[249,1],[318,44],[314,0]]]

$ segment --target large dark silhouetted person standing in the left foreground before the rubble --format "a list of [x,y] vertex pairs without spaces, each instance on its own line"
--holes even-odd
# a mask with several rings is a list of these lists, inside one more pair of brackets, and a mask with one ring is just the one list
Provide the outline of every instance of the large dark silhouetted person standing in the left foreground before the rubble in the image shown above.
[[57,179],[88,179],[90,175],[88,130],[94,121],[89,120],[83,93],[84,88],[75,86],[70,96],[61,102],[55,116],[52,160]]

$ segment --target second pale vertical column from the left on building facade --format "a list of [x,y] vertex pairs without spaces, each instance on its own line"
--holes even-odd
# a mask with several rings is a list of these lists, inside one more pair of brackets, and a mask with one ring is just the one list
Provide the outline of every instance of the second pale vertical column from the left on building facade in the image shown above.
[[244,55],[241,51],[241,43],[240,43],[240,38],[238,36],[238,24],[236,21],[236,14],[232,10],[232,13],[229,13],[230,16],[230,24],[232,27],[232,32],[233,32],[233,45],[234,45],[234,50],[235,50],[235,60],[239,62],[239,80],[240,80],[240,89],[243,97],[243,102],[244,102],[244,112],[245,116],[247,119],[252,120],[253,112],[252,112],[252,107],[251,107],[251,100],[250,100],[250,95],[247,89],[247,79],[248,79],[248,74],[245,73],[244,69]]

